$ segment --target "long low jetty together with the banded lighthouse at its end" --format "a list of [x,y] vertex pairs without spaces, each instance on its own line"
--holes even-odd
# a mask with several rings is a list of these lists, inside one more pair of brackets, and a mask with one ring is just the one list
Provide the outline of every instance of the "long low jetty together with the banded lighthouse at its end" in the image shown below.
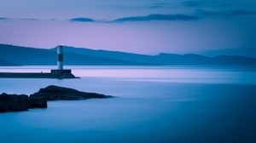
[[63,68],[63,46],[57,47],[57,69],[50,72],[0,72],[0,78],[79,78],[72,74],[71,69]]

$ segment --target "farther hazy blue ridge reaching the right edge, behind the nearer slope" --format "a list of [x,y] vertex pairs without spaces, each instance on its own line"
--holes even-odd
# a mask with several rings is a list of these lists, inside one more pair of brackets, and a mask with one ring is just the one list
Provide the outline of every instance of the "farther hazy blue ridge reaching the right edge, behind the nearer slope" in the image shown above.
[[[55,50],[56,49],[52,49]],[[73,54],[84,54],[90,56],[100,56],[105,58],[113,58],[118,60],[130,60],[143,63],[151,63],[152,65],[163,66],[196,66],[196,65],[256,65],[256,58],[245,56],[218,55],[208,57],[201,54],[133,54],[119,51],[95,50],[65,47],[65,51]]]

